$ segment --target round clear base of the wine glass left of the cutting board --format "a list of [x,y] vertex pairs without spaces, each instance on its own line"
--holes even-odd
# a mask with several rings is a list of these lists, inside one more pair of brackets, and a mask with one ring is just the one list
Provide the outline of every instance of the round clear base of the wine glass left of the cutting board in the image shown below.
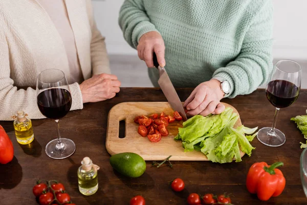
[[61,138],[61,140],[62,144],[64,145],[61,149],[56,148],[57,139],[51,140],[46,145],[45,152],[49,157],[53,159],[64,159],[74,154],[76,146],[73,140],[67,138]]

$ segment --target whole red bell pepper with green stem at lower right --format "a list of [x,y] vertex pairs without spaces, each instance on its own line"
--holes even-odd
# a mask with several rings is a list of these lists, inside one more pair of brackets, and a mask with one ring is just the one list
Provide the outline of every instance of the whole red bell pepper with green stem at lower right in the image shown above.
[[283,166],[282,162],[275,162],[268,166],[266,162],[254,163],[247,174],[246,187],[252,194],[256,194],[260,200],[269,200],[272,196],[278,196],[286,186],[286,179],[276,167]]

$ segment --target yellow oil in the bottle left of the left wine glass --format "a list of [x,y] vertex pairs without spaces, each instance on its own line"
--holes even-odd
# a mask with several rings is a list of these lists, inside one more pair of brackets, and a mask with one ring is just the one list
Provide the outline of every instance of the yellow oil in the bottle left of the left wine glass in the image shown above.
[[32,122],[27,123],[20,122],[19,124],[14,124],[16,139],[21,145],[28,145],[34,139]]

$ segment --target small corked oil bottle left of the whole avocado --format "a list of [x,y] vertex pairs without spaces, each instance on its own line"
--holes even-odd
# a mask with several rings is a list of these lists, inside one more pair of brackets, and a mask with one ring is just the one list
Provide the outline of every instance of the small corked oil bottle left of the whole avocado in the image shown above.
[[98,190],[98,173],[99,167],[93,165],[89,157],[84,157],[81,166],[78,169],[79,191],[84,195],[95,194]]

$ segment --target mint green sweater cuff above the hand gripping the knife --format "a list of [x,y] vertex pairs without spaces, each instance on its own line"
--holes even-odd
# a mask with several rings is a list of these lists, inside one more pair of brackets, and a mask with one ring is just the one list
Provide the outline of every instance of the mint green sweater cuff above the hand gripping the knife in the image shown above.
[[160,33],[155,25],[151,24],[148,21],[143,21],[141,23],[139,23],[133,30],[132,36],[133,36],[133,45],[135,46],[135,48],[137,48],[138,44],[139,44],[139,40],[142,37],[142,35],[144,35],[145,33],[148,33],[150,31],[156,31],[158,33]]

